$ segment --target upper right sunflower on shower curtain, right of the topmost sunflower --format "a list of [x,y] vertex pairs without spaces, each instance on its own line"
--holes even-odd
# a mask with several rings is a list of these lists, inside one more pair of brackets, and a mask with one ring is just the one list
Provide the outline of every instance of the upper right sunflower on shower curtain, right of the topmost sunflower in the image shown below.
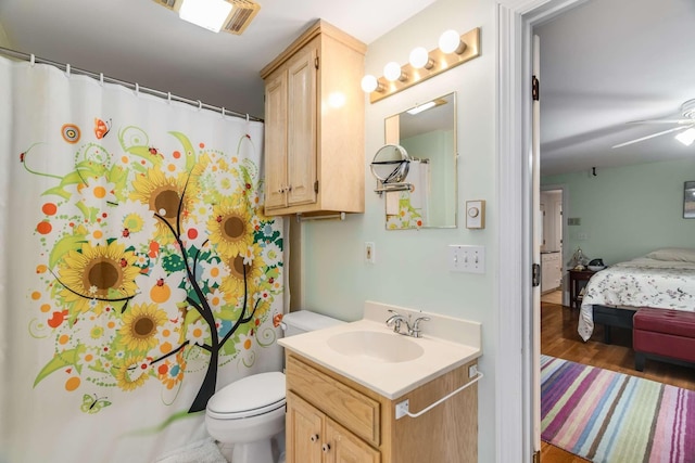
[[253,244],[253,228],[249,211],[239,207],[231,200],[223,200],[213,207],[207,221],[210,242],[217,247],[224,259],[244,254]]

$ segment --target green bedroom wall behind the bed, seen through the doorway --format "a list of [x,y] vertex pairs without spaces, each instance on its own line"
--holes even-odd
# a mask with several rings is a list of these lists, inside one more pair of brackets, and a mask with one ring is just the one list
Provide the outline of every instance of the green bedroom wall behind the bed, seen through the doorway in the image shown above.
[[[695,180],[691,159],[598,168],[596,176],[574,172],[541,179],[542,185],[563,184],[569,246],[606,265],[629,260],[649,250],[695,247],[695,219],[683,218],[683,183]],[[580,226],[567,226],[579,218]]]

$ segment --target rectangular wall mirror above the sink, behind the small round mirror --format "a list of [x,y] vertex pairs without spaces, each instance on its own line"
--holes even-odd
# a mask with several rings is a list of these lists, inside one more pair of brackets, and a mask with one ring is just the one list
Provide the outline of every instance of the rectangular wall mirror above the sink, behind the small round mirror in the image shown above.
[[409,188],[383,194],[387,229],[455,228],[456,93],[388,117],[386,143],[402,146],[409,160],[402,180]]

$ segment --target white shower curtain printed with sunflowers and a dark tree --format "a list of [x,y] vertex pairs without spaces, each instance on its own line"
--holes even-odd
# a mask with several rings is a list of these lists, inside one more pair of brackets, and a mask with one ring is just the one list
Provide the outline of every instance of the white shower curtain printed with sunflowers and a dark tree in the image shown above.
[[263,124],[0,57],[0,463],[154,462],[281,369]]

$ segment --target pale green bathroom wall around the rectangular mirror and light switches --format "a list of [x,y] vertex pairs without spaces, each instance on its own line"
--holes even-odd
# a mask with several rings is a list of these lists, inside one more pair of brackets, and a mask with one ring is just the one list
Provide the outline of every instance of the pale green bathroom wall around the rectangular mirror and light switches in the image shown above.
[[[343,320],[361,318],[366,299],[482,323],[485,377],[479,388],[479,461],[495,461],[495,346],[497,332],[495,165],[495,23],[492,0],[440,0],[369,44],[366,73],[380,76],[389,61],[407,62],[416,46],[437,47],[442,31],[481,27],[482,54],[366,110],[365,214],[346,221],[303,223],[303,307]],[[458,228],[386,231],[383,200],[374,193],[368,164],[384,143],[384,118],[456,91]],[[366,95],[365,95],[366,98]],[[467,230],[465,201],[486,201],[486,228]],[[376,263],[364,262],[364,242],[376,244]],[[484,274],[447,270],[450,244],[485,246]],[[425,326],[427,331],[427,326]],[[519,388],[519,397],[520,397]]]

